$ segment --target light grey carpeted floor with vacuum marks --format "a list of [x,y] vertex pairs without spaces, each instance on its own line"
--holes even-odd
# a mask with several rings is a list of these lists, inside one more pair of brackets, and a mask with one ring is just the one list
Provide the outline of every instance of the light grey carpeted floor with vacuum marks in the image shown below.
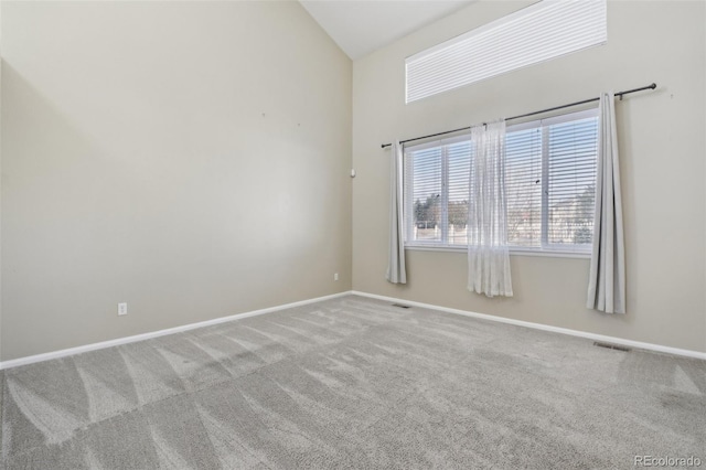
[[706,467],[706,362],[344,297],[4,371],[7,469]]

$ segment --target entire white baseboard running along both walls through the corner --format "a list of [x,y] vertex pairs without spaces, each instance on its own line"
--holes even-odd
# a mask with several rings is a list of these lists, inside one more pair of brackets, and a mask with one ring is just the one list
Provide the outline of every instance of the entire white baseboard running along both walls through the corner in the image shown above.
[[399,299],[399,298],[395,298],[395,297],[386,297],[386,296],[378,296],[378,295],[375,295],[375,293],[361,292],[361,291],[356,291],[356,290],[347,290],[347,291],[343,291],[343,292],[339,292],[339,293],[333,293],[331,296],[317,297],[317,298],[313,298],[313,299],[301,300],[301,301],[298,301],[298,302],[285,303],[285,305],[276,306],[276,307],[268,307],[266,309],[253,310],[253,311],[243,312],[243,313],[236,313],[236,314],[233,314],[233,316],[221,317],[221,318],[216,318],[216,319],[213,319],[213,320],[200,321],[200,322],[196,322],[196,323],[184,324],[184,325],[181,325],[181,327],[168,328],[165,330],[159,330],[159,331],[152,331],[152,332],[149,332],[149,333],[136,334],[133,337],[118,338],[118,339],[115,339],[115,340],[103,341],[103,342],[99,342],[99,343],[86,344],[86,345],[83,345],[83,346],[69,348],[69,349],[66,349],[66,350],[60,350],[60,351],[53,351],[53,352],[43,353],[43,354],[36,354],[36,355],[30,355],[30,356],[25,356],[25,357],[13,359],[13,360],[10,360],[10,361],[0,362],[0,370],[18,367],[20,365],[33,364],[33,363],[36,363],[36,362],[49,361],[49,360],[52,360],[52,359],[65,357],[65,356],[68,356],[68,355],[79,354],[79,353],[88,352],[88,351],[100,350],[100,349],[105,349],[105,348],[118,346],[120,344],[133,343],[136,341],[149,340],[149,339],[152,339],[152,338],[164,337],[167,334],[181,333],[183,331],[194,330],[196,328],[210,327],[210,325],[213,325],[213,324],[225,323],[227,321],[242,320],[244,318],[255,317],[255,316],[265,314],[265,313],[271,313],[271,312],[276,312],[276,311],[279,311],[279,310],[290,309],[290,308],[295,308],[295,307],[301,307],[301,306],[306,306],[306,305],[309,305],[309,303],[320,302],[322,300],[335,299],[335,298],[339,298],[339,297],[345,297],[345,296],[350,296],[350,295],[367,297],[367,298],[377,299],[377,300],[385,300],[385,301],[393,302],[393,303],[404,303],[404,305],[408,305],[408,306],[413,306],[413,307],[421,307],[421,308],[427,308],[427,309],[432,309],[432,310],[439,310],[439,311],[447,312],[447,313],[461,314],[461,316],[464,316],[464,317],[471,317],[471,318],[478,318],[478,319],[482,319],[482,320],[496,321],[496,322],[500,322],[500,323],[509,323],[509,324],[514,324],[514,325],[517,325],[517,327],[533,328],[535,330],[550,331],[550,332],[554,332],[554,333],[561,333],[561,334],[568,334],[568,335],[571,335],[571,337],[586,338],[586,339],[593,340],[593,341],[603,341],[603,342],[608,342],[608,343],[620,344],[620,345],[624,345],[624,346],[637,348],[637,349],[642,349],[642,350],[648,350],[648,351],[656,351],[656,352],[662,352],[662,353],[667,353],[667,354],[675,354],[675,355],[681,355],[681,356],[686,356],[686,357],[695,357],[695,359],[706,360],[706,353],[698,352],[698,351],[691,351],[691,350],[683,350],[683,349],[678,349],[678,348],[663,346],[661,344],[644,343],[644,342],[641,342],[641,341],[632,341],[632,340],[625,340],[625,339],[622,339],[622,338],[607,337],[607,335],[603,335],[603,334],[588,333],[588,332],[585,332],[585,331],[569,330],[567,328],[552,327],[552,325],[548,325],[548,324],[533,323],[533,322],[530,322],[530,321],[513,320],[513,319],[504,318],[504,317],[496,317],[496,316],[491,316],[491,314],[485,314],[485,313],[477,313],[477,312],[471,312],[471,311],[467,311],[467,310],[451,309],[451,308],[448,308],[448,307],[440,307],[440,306],[435,306],[435,305],[431,305],[431,303],[416,302],[416,301],[413,301],[413,300],[405,300],[405,299]]

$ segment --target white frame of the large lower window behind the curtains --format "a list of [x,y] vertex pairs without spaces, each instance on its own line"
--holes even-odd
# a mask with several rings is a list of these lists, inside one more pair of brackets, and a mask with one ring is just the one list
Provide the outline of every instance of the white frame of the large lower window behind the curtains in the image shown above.
[[[549,151],[548,151],[548,130],[549,130],[549,126],[554,126],[554,125],[558,125],[558,124],[564,124],[564,122],[570,122],[570,121],[577,121],[577,120],[582,120],[582,119],[587,119],[587,118],[598,118],[599,116],[599,110],[597,106],[590,107],[590,108],[585,108],[585,109],[579,109],[576,111],[570,111],[570,113],[563,113],[563,114],[555,114],[545,118],[541,118],[541,119],[531,119],[531,120],[525,120],[518,124],[514,124],[514,125],[510,125],[507,126],[507,130],[506,132],[513,132],[513,131],[521,131],[521,130],[526,130],[526,129],[535,129],[535,128],[542,128],[542,205],[541,205],[541,211],[542,211],[542,226],[541,226],[541,245],[539,246],[535,246],[535,247],[525,247],[525,246],[517,246],[517,245],[510,245],[510,254],[511,255],[516,255],[516,256],[546,256],[546,257],[559,257],[559,258],[590,258],[591,256],[591,250],[592,250],[592,244],[586,244],[585,246],[580,246],[580,245],[574,245],[573,248],[567,248],[566,245],[561,245],[561,244],[550,244],[548,243],[548,217],[549,217],[549,211],[548,211],[548,185],[549,185],[549,179],[548,179],[548,169],[549,169],[549,164],[548,164],[548,160],[549,160]],[[598,138],[598,136],[597,136]],[[415,145],[415,146],[410,146],[408,147],[409,149],[414,149],[414,150],[424,150],[424,149],[430,149],[430,148],[436,148],[436,147],[445,147],[448,145],[452,145],[452,143],[458,143],[461,141],[468,141],[470,140],[470,132],[469,131],[464,131],[463,133],[457,135],[454,137],[449,137],[449,138],[445,138],[445,139],[437,139],[437,140],[431,140],[431,141],[427,141],[424,143],[419,143],[419,145]],[[597,142],[598,143],[598,142]],[[597,149],[598,150],[598,149]],[[446,152],[445,152],[446,153]],[[446,160],[446,162],[445,162]],[[404,178],[407,177],[407,171],[406,171],[406,165],[407,165],[407,148],[404,149],[404,164],[403,164],[403,172],[404,172]],[[449,188],[448,188],[448,159],[442,158],[442,177],[441,177],[441,185],[442,185],[442,194],[443,194],[443,199],[442,201],[445,202],[443,207],[442,207],[442,220],[441,220],[441,227],[442,231],[448,231],[448,193],[449,193]],[[467,245],[451,245],[448,244],[448,241],[446,243],[439,243],[436,241],[410,241],[411,237],[411,231],[413,231],[413,226],[415,225],[414,222],[407,222],[407,221],[414,221],[414,204],[408,204],[407,202],[410,201],[410,199],[408,197],[408,186],[407,184],[403,184],[404,186],[404,205],[403,205],[403,211],[404,211],[404,218],[405,218],[405,223],[404,223],[404,246],[405,249],[411,249],[411,250],[421,250],[421,252],[451,252],[451,253],[460,253],[460,252],[466,252]],[[593,201],[595,204],[595,201]],[[445,223],[446,222],[446,223]],[[446,232],[448,233],[448,232]],[[447,239],[447,237],[442,237],[443,239]]]

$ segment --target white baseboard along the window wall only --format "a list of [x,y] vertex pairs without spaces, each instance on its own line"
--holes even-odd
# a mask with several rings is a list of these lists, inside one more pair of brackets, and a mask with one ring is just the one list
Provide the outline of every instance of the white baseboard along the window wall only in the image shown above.
[[533,328],[535,330],[550,331],[554,333],[561,333],[561,334],[568,334],[571,337],[586,338],[593,341],[602,341],[607,343],[620,344],[623,346],[637,348],[637,349],[648,350],[648,351],[656,351],[656,352],[675,354],[675,355],[681,355],[686,357],[702,359],[706,361],[706,352],[683,350],[678,348],[663,346],[661,344],[653,344],[653,343],[643,343],[641,341],[632,341],[632,340],[625,340],[622,338],[607,337],[605,334],[588,333],[586,331],[569,330],[568,328],[552,327],[548,324],[533,323],[530,321],[513,320],[511,318],[496,317],[496,316],[491,316],[485,313],[477,313],[477,312],[471,312],[467,310],[451,309],[447,307],[435,306],[431,303],[415,302],[411,300],[398,299],[395,297],[378,296],[375,293],[360,292],[356,290],[352,290],[351,293],[355,296],[361,296],[361,297],[368,297],[371,299],[385,300],[393,303],[403,303],[406,306],[434,309],[442,312],[461,314],[464,317],[479,318],[482,320],[496,321],[500,323],[509,323],[517,327]]

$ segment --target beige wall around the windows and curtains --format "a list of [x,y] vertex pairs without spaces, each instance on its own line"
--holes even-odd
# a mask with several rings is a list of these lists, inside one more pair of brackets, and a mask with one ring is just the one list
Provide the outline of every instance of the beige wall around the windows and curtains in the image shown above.
[[[608,44],[410,105],[404,58],[531,2],[481,1],[353,64],[353,288],[706,352],[704,2],[610,1]],[[466,289],[466,255],[407,250],[385,281],[388,151],[379,145],[656,82],[617,105],[627,316],[587,310],[587,259],[512,256],[515,297]]]

